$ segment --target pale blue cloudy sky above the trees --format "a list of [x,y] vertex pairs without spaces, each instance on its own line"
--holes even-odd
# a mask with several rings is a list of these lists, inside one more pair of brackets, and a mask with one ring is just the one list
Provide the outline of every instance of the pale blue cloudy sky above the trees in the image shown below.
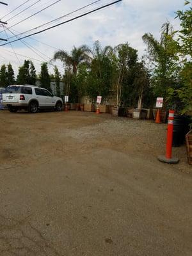
[[[17,22],[28,18],[30,15],[58,1],[58,3],[46,10],[10,28],[12,33],[18,35],[29,29],[36,28],[45,22],[73,12],[87,4],[91,4],[94,0],[28,0],[27,3],[23,4],[9,15],[6,14],[26,2],[26,0],[3,1],[4,3],[8,3],[8,6],[0,4],[0,19],[8,23],[6,28],[15,25]],[[72,19],[84,12],[112,2],[113,0],[97,1],[97,3],[83,10],[67,15],[63,19],[47,24],[42,28],[37,28],[30,33]],[[34,5],[28,8],[31,4]],[[25,8],[28,8],[28,10],[22,12]],[[86,44],[93,47],[95,40],[99,40],[102,47],[106,45],[114,47],[115,45],[128,42],[131,47],[138,50],[138,55],[141,58],[146,49],[142,36],[145,33],[152,33],[152,35],[159,39],[161,26],[167,20],[172,23],[174,29],[179,29],[179,20],[175,19],[175,12],[183,9],[184,0],[123,0],[120,3],[90,13],[80,19],[73,20],[57,28],[49,29],[49,31],[45,31],[44,33],[26,38],[22,42],[17,41],[4,46],[0,45],[0,65],[9,62],[12,63],[15,75],[17,75],[18,67],[23,64],[25,59],[31,58],[35,64],[37,73],[39,73],[41,62],[50,61],[54,52],[58,51],[58,49],[70,52],[74,45],[79,47],[80,45]],[[4,17],[4,15],[6,16]],[[9,30],[4,31],[4,28],[2,26],[0,27],[0,38],[10,38],[10,36],[13,36],[12,33]],[[25,35],[29,35],[29,32]],[[9,41],[14,39],[15,37],[10,38]],[[0,44],[3,43],[4,42],[0,40]],[[19,54],[26,57],[20,56]],[[51,63],[52,65],[49,65],[49,71],[51,73],[53,72],[53,65],[57,65],[60,72],[63,74],[64,69],[60,61],[52,61]]]

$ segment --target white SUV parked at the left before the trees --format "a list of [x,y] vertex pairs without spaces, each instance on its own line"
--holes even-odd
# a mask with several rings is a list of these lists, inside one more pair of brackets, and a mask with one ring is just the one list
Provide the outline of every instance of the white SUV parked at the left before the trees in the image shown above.
[[26,109],[29,113],[36,113],[38,109],[55,109],[61,111],[63,100],[53,96],[51,92],[37,86],[10,85],[3,92],[2,103],[10,112]]

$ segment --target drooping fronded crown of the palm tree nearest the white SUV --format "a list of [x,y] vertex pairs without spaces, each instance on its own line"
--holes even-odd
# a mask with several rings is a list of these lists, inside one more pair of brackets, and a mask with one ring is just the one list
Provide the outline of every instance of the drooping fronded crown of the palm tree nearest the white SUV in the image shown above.
[[74,47],[70,54],[63,50],[55,52],[53,60],[60,60],[65,66],[72,67],[72,72],[76,76],[78,65],[80,63],[90,63],[90,53],[91,50],[88,46],[81,45],[80,47]]

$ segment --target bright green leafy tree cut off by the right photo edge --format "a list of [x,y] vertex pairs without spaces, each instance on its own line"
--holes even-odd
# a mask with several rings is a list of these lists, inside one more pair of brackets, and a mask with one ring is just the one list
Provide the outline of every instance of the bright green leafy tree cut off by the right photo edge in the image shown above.
[[177,11],[180,20],[180,30],[175,31],[178,39],[172,42],[172,52],[180,58],[180,88],[169,88],[168,100],[177,99],[181,103],[180,113],[192,115],[192,8],[191,1],[185,1],[190,7]]

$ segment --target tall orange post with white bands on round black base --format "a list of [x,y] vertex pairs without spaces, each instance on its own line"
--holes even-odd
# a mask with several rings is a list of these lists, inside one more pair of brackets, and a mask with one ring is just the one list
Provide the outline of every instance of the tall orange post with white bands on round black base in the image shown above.
[[166,154],[164,156],[157,157],[159,161],[164,163],[178,163],[179,159],[176,157],[172,157],[172,143],[173,143],[173,120],[174,120],[174,110],[169,111],[168,117],[168,128],[167,128],[167,136],[166,136]]

